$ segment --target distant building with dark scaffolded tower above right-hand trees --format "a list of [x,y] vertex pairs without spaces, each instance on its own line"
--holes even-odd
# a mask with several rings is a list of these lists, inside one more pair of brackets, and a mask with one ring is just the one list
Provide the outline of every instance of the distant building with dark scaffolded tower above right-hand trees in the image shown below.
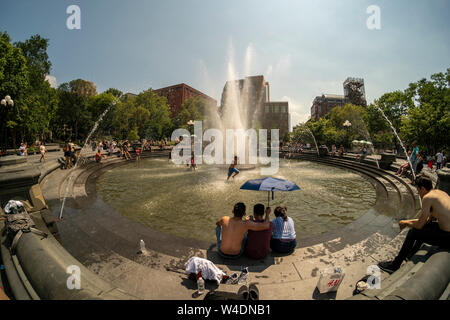
[[333,108],[351,103],[358,106],[367,106],[366,94],[364,89],[364,79],[347,78],[344,83],[344,95],[322,94],[317,96],[311,106],[311,119],[317,121]]

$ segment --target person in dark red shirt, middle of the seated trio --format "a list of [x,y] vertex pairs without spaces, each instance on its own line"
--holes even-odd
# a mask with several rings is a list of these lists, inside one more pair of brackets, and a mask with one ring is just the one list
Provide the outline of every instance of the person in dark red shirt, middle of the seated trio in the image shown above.
[[[253,207],[253,219],[251,221],[264,223],[264,205],[255,204]],[[268,220],[267,213],[266,219]],[[273,223],[270,222],[269,229],[262,231],[249,230],[247,234],[247,245],[245,254],[252,259],[264,259],[270,251],[270,237],[272,236]]]

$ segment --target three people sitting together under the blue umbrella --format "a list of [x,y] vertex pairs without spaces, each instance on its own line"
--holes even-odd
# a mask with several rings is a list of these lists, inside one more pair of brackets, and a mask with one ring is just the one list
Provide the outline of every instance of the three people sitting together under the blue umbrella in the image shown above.
[[276,207],[275,219],[270,221],[270,207],[255,204],[253,216],[246,217],[245,204],[236,203],[233,217],[224,216],[216,222],[219,255],[236,259],[245,253],[252,259],[264,259],[270,249],[278,253],[292,253],[297,240],[294,221],[286,211],[286,207]]

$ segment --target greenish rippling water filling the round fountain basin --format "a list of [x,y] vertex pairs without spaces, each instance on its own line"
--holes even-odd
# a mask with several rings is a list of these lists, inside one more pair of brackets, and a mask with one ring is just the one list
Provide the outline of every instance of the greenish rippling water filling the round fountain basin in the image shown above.
[[[371,183],[356,173],[312,162],[281,161],[280,166],[275,177],[294,181],[302,190],[277,192],[270,206],[288,207],[299,239],[340,229],[376,201]],[[240,190],[245,181],[261,177],[255,168],[227,182],[226,168],[202,165],[191,171],[166,159],[144,159],[108,170],[96,188],[103,201],[131,220],[166,234],[214,242],[215,222],[232,215],[236,202],[246,204],[247,215],[254,204],[267,205],[266,192]]]

